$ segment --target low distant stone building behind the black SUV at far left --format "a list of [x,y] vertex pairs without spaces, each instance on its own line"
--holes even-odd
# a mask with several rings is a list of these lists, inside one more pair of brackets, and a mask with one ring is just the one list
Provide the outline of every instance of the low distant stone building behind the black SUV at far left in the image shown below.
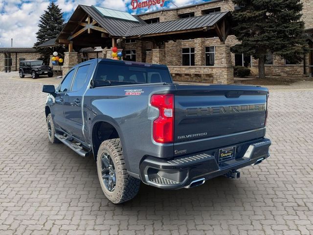
[[40,57],[32,47],[0,47],[0,71],[19,71],[20,61],[38,60]]

